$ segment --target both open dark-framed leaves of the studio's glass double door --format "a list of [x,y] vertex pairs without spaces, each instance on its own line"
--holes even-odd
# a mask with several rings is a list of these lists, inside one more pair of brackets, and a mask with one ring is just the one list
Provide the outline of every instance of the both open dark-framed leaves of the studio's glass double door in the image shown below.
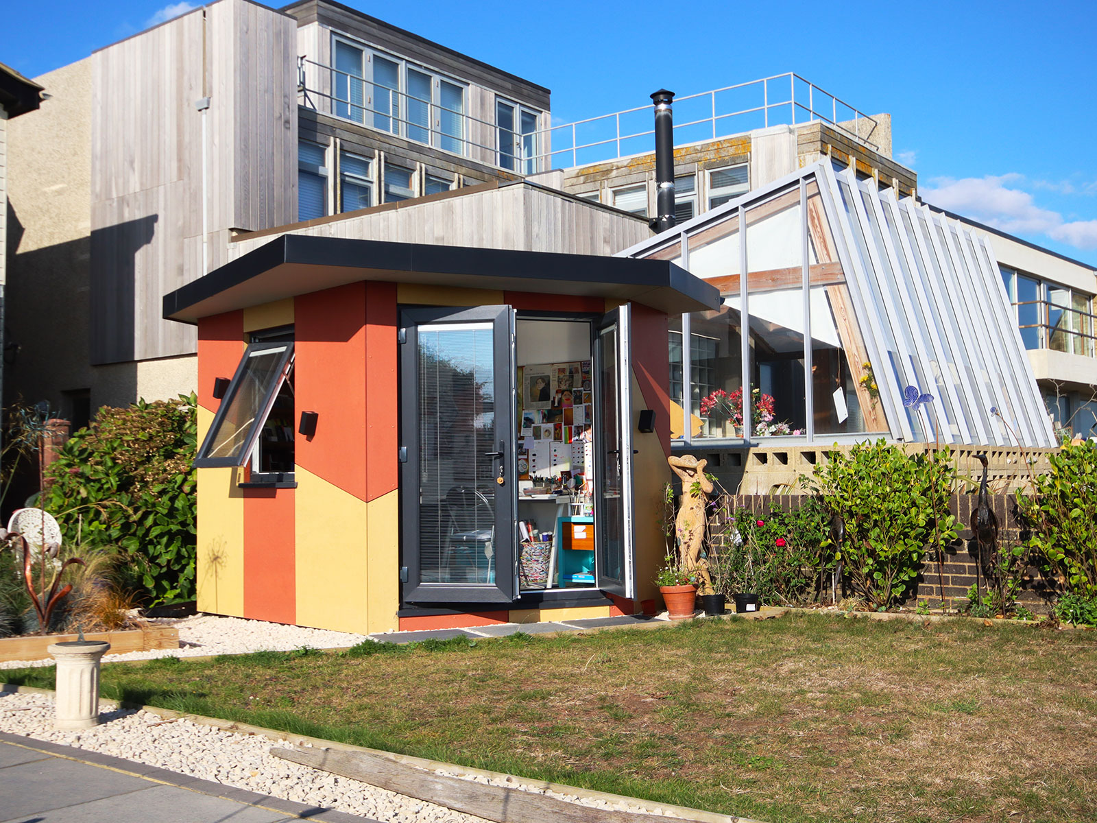
[[[518,598],[514,312],[400,318],[400,576],[409,604]],[[599,588],[634,596],[627,307],[593,339]]]

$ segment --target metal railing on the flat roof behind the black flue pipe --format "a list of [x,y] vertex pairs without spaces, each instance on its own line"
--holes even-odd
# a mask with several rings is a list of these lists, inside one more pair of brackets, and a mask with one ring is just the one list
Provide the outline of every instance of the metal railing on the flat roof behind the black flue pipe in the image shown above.
[[[823,122],[879,151],[878,121],[796,74],[675,98],[675,145],[714,140],[756,128]],[[544,168],[607,162],[653,150],[652,105],[552,126],[538,140]]]

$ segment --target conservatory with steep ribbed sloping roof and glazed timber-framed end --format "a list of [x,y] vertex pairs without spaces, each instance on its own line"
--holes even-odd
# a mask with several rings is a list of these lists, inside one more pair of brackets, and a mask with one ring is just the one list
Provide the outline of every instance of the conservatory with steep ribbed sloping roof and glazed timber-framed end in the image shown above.
[[688,443],[1054,446],[988,240],[851,169],[816,162],[620,256],[723,296],[671,324]]

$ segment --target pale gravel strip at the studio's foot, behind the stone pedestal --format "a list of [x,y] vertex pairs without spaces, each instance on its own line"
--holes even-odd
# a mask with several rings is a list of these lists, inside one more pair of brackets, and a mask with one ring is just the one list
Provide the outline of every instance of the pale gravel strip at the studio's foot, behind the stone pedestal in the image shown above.
[[[154,649],[148,652],[108,653],[103,662],[147,661],[155,657],[200,657],[213,654],[246,654],[248,652],[290,652],[294,649],[340,649],[370,641],[364,634],[332,632],[326,629],[307,629],[303,625],[283,625],[262,620],[194,615],[188,618],[154,618],[150,625],[171,625],[179,629],[180,649]],[[3,668],[52,666],[54,661],[4,661]]]

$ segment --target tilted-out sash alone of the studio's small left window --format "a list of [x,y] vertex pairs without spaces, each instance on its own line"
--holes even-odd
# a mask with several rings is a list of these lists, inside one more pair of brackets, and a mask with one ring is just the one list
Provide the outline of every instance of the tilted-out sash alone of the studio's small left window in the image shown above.
[[292,342],[248,346],[199,448],[195,466],[239,466],[251,459],[259,432],[292,365]]

